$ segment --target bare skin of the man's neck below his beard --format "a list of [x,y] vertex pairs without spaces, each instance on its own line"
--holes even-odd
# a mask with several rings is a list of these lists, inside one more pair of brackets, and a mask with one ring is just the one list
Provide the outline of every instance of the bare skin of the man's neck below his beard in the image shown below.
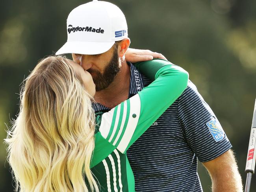
[[117,106],[124,100],[128,99],[130,88],[130,66],[126,61],[122,62],[122,66],[114,81],[104,90],[96,92],[94,98],[109,109]]

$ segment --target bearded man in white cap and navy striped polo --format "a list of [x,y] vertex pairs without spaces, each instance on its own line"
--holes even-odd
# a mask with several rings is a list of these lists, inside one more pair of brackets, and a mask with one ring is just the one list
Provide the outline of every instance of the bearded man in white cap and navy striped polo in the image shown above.
[[[95,111],[109,111],[151,82],[124,57],[130,39],[117,6],[94,0],[76,7],[67,19],[67,33],[67,42],[56,54],[72,53],[74,61],[91,73]],[[127,151],[136,191],[202,191],[199,159],[214,192],[240,192],[231,147],[214,113],[189,82],[180,98]]]

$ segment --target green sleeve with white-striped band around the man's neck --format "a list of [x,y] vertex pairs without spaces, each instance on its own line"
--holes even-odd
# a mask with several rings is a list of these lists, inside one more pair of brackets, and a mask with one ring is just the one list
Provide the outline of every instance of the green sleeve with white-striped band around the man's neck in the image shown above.
[[102,137],[121,153],[125,153],[187,87],[188,73],[168,61],[157,59],[136,66],[155,80],[101,116],[99,131]]

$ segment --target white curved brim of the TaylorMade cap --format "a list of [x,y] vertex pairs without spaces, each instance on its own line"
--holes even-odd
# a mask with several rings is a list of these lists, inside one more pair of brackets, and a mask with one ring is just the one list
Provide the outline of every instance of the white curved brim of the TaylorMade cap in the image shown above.
[[115,41],[90,42],[90,41],[67,41],[55,55],[61,54],[83,54],[96,55],[108,51]]

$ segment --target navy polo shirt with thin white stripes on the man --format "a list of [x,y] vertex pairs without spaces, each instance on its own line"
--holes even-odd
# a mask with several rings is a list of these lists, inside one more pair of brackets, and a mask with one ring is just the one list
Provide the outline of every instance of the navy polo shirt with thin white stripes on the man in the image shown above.
[[[152,81],[131,69],[129,98]],[[161,102],[161,96],[159,96]],[[109,111],[94,104],[95,111]],[[189,81],[182,95],[128,149],[136,192],[202,192],[197,159],[210,161],[231,148],[215,114]]]

